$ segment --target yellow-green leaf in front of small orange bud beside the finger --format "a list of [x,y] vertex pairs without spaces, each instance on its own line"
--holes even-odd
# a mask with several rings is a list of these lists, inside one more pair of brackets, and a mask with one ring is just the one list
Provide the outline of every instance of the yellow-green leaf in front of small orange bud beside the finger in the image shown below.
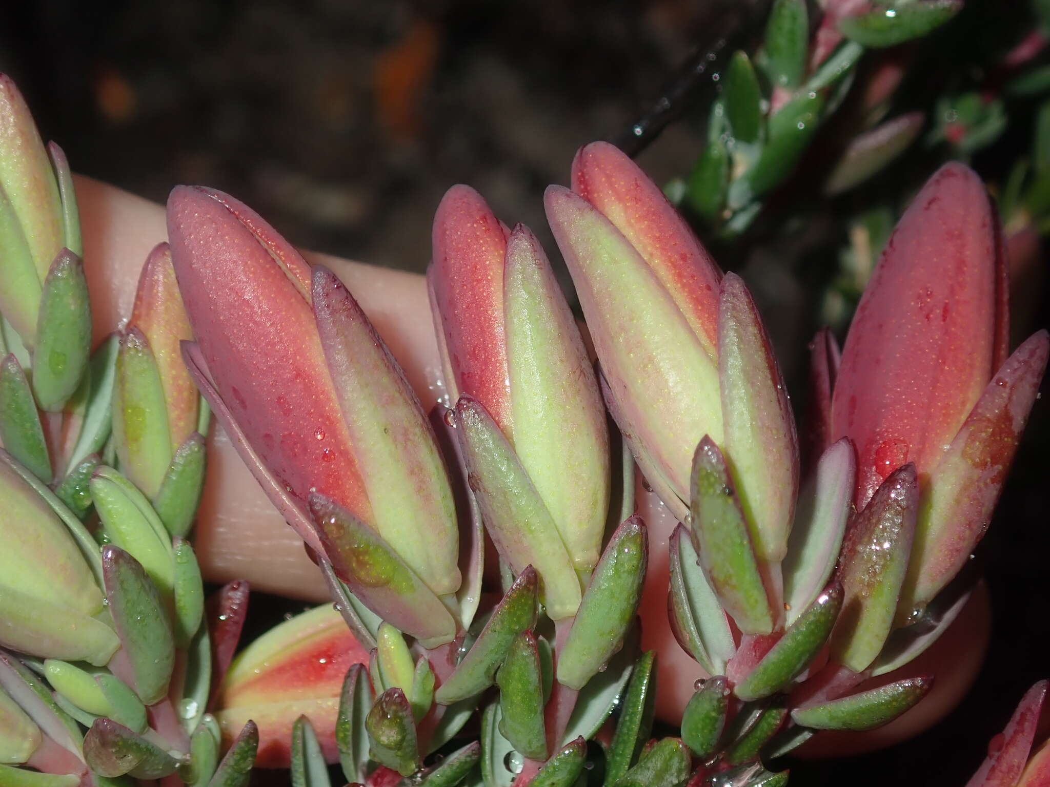
[[171,462],[168,405],[153,350],[134,327],[121,339],[112,406],[113,442],[121,469],[153,497]]

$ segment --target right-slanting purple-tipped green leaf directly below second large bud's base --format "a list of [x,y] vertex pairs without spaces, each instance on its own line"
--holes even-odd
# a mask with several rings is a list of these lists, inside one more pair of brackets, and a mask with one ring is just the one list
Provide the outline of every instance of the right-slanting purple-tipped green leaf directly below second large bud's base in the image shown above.
[[511,643],[536,625],[538,584],[536,571],[527,567],[492,611],[466,656],[438,687],[434,695],[438,703],[450,705],[492,685]]

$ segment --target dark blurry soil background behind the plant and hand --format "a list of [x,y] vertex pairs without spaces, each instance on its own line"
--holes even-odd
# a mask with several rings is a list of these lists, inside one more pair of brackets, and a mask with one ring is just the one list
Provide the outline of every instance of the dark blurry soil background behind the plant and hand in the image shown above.
[[[217,187],[299,246],[422,271],[433,211],[448,186],[468,183],[508,222],[545,233],[542,190],[567,182],[575,149],[623,139],[695,47],[714,47],[727,34],[742,44],[754,40],[760,27],[752,20],[763,5],[7,2],[0,68],[25,93],[45,137],[83,173],[158,201],[178,183]],[[970,29],[1001,21],[1011,7],[968,3]],[[939,57],[950,69],[965,65],[967,52],[949,48]],[[639,156],[657,182],[688,172],[699,151],[696,119],[712,89],[702,86],[686,120]],[[1022,118],[973,164],[1001,180],[1029,145]],[[936,165],[915,161],[905,178],[918,183]],[[899,177],[862,191],[899,190]],[[806,193],[804,172],[795,186],[786,203]],[[797,391],[816,322],[813,286],[837,264],[844,231],[836,219],[848,207],[811,215],[806,231],[784,242],[715,243],[723,267],[741,270],[754,289]],[[542,237],[554,251],[549,235]],[[1041,303],[1017,333],[1047,324],[1046,299]],[[793,784],[962,787],[1024,690],[1050,676],[1048,437],[1044,400],[981,549],[995,621],[969,697],[941,726],[895,749],[795,764]],[[290,609],[258,597],[253,625],[260,630]]]

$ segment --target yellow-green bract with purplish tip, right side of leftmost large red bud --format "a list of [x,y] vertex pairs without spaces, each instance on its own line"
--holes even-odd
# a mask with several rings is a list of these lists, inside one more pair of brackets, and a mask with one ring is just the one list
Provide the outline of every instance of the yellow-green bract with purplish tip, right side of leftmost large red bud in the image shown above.
[[435,594],[455,593],[453,492],[419,400],[350,291],[326,268],[314,269],[313,304],[374,528]]

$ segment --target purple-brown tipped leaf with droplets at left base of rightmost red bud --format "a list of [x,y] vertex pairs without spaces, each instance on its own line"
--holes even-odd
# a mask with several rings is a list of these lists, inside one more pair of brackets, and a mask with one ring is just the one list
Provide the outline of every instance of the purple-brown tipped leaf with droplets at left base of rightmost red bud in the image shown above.
[[858,673],[889,636],[915,534],[919,482],[915,465],[892,472],[858,514],[840,559],[845,596],[832,653]]

